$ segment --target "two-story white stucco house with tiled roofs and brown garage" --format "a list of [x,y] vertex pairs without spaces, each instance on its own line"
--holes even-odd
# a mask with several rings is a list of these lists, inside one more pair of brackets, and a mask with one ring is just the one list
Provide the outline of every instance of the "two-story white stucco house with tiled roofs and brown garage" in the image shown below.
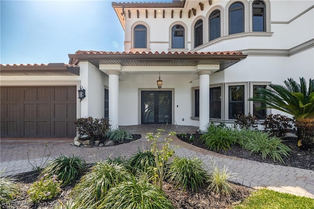
[[233,122],[239,113],[270,114],[247,101],[257,88],[314,78],[313,0],[112,7],[125,31],[124,52],[78,51],[69,64],[1,65],[2,136],[73,136],[73,120],[88,116],[108,117],[113,128],[168,123],[205,130],[209,121]]

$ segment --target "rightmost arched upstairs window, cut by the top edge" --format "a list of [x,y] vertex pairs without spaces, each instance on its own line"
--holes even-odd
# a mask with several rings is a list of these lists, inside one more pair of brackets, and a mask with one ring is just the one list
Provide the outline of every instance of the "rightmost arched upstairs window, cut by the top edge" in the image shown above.
[[253,31],[266,32],[265,4],[261,0],[253,2]]

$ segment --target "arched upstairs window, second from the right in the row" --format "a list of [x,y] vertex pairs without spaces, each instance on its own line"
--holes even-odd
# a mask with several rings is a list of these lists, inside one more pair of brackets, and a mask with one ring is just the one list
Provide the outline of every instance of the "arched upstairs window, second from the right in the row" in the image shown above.
[[244,32],[244,6],[236,2],[229,7],[229,34]]

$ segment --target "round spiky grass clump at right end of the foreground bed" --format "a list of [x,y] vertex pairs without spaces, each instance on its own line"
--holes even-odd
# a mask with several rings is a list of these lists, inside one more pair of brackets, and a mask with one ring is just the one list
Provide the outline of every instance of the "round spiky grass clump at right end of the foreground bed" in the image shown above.
[[207,172],[202,166],[202,160],[196,157],[175,157],[169,163],[168,181],[182,187],[184,191],[186,187],[197,191],[208,179]]

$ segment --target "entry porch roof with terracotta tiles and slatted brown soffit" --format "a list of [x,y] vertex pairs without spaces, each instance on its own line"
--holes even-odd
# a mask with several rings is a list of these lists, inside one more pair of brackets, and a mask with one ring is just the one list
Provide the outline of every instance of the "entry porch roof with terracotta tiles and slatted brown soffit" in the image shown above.
[[100,64],[119,64],[121,66],[171,66],[189,67],[197,65],[218,65],[219,71],[245,59],[242,52],[97,52],[77,51],[69,54],[69,64],[77,65],[88,61],[99,68]]

